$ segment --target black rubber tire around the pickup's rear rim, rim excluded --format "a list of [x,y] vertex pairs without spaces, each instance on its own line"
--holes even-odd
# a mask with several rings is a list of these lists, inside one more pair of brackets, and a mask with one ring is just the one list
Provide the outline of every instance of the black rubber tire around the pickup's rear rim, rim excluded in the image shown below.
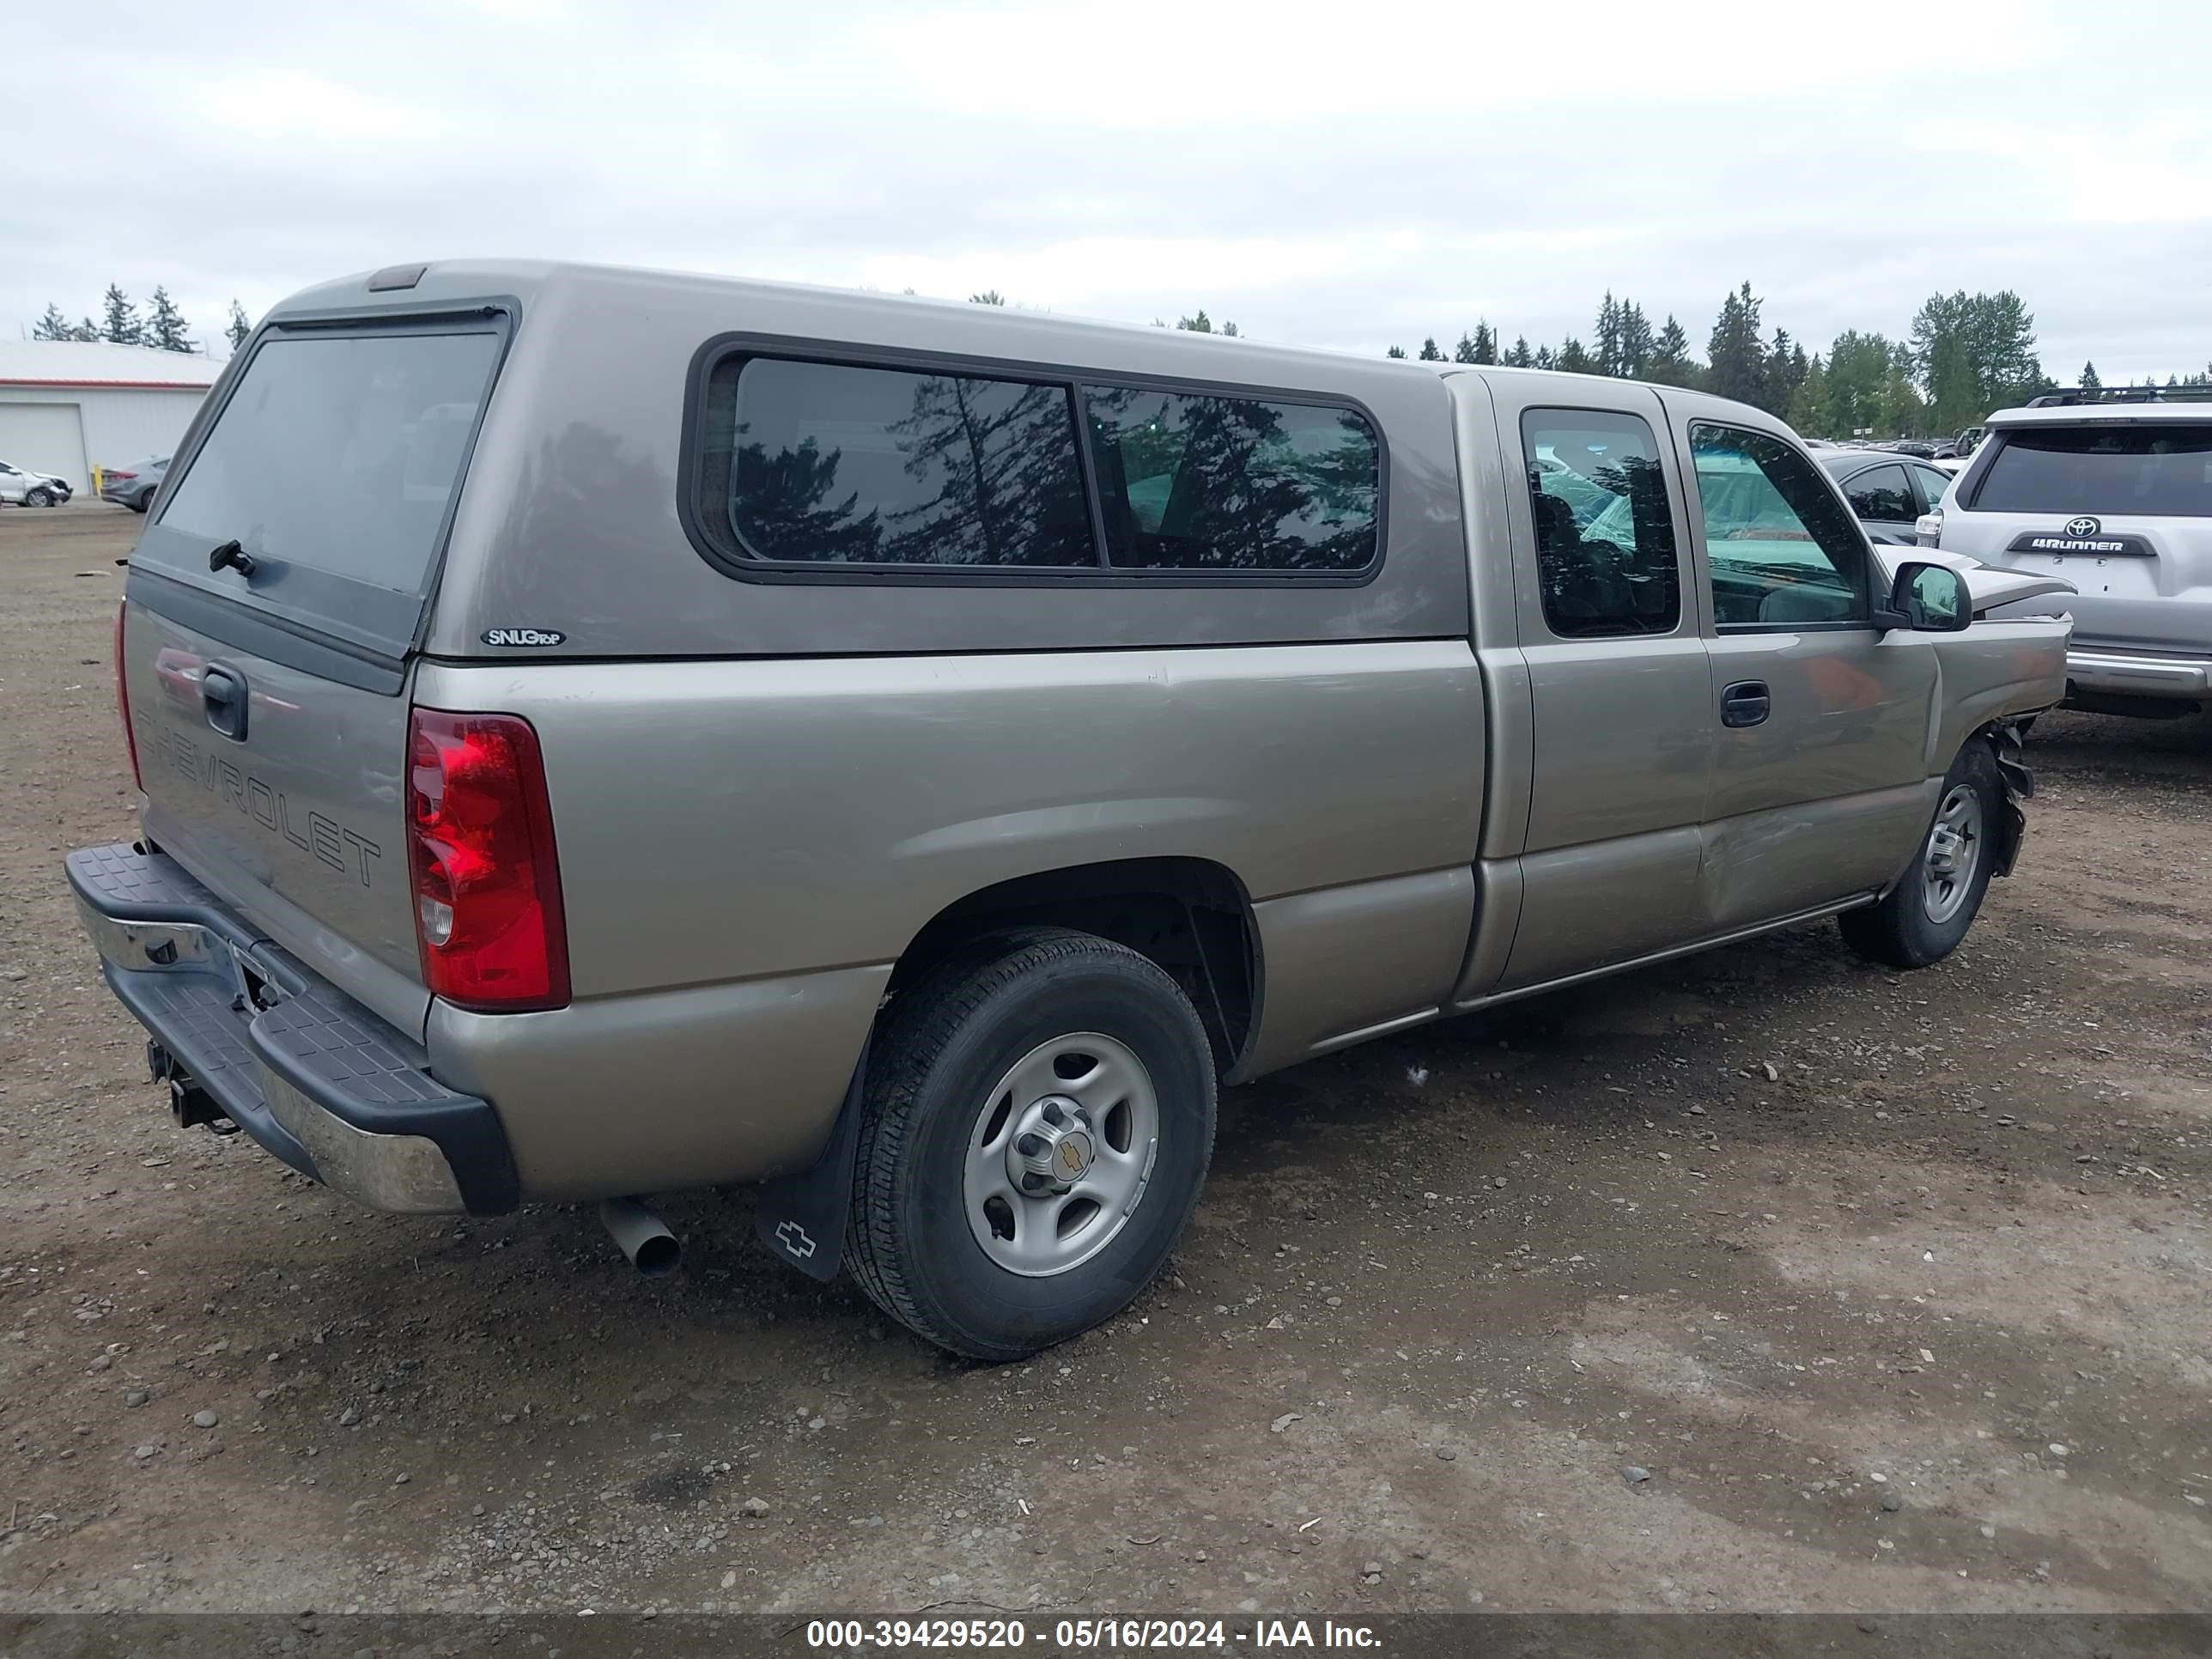
[[[1068,1033],[1113,1037],[1144,1064],[1157,1157],[1097,1254],[1024,1276],[984,1252],[962,1181],[995,1084]],[[1150,958],[1066,929],[978,940],[902,989],[876,1031],[845,1261],[869,1301],[918,1336],[978,1360],[1018,1360],[1137,1298],[1181,1239],[1212,1148],[1212,1048]]]

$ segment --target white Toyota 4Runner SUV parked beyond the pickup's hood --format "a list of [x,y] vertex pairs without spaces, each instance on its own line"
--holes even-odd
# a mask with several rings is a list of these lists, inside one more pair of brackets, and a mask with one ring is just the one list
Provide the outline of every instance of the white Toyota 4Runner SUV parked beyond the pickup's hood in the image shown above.
[[1922,546],[2075,586],[2073,708],[2212,706],[2212,389],[2057,392],[2000,409],[1918,529]]

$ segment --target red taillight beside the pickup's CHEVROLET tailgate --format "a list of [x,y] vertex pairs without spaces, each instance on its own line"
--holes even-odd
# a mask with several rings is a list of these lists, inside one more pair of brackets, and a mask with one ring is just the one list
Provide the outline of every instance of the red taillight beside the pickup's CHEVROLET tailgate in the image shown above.
[[431,993],[484,1013],[566,1006],[568,925],[531,723],[414,710],[407,841]]

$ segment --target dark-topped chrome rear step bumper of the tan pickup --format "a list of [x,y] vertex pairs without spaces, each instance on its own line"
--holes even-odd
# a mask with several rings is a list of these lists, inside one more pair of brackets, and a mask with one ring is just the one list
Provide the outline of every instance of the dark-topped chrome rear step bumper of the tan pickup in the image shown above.
[[117,1000],[263,1148],[374,1210],[504,1214],[520,1194],[491,1104],[257,936],[181,865],[131,845],[66,860]]

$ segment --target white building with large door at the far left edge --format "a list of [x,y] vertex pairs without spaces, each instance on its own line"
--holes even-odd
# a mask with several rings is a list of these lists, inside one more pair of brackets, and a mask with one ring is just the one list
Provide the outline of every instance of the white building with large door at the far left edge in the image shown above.
[[0,460],[86,491],[93,467],[166,456],[221,363],[106,341],[0,341]]

